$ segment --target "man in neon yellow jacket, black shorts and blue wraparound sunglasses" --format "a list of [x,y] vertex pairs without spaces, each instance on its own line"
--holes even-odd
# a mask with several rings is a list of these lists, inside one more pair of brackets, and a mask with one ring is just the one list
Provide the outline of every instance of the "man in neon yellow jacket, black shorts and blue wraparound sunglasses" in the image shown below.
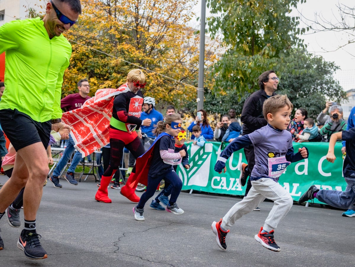
[[[0,218],[26,186],[24,229],[17,247],[30,259],[47,258],[35,220],[49,172],[50,131],[59,131],[68,139],[71,130],[60,119],[61,86],[71,56],[71,45],[62,33],[77,21],[80,0],[50,0],[45,12],[42,20],[15,20],[0,27],[0,54],[6,52],[0,123],[17,152],[11,179],[0,191]],[[0,250],[3,247],[0,237]]]

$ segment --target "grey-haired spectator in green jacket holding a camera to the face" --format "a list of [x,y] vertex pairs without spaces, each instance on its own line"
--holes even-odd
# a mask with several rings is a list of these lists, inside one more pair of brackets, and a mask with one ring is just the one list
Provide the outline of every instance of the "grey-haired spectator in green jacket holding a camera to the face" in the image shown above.
[[[329,142],[333,133],[345,131],[348,124],[343,119],[343,108],[339,105],[329,107],[330,121],[328,121],[321,129],[321,135],[327,135],[326,142]],[[337,140],[340,142],[341,139]]]

